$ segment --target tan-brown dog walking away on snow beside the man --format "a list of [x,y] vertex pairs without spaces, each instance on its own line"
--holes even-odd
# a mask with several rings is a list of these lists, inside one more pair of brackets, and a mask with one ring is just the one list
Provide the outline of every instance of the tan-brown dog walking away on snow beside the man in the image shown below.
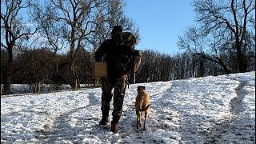
[[138,126],[141,127],[141,115],[145,112],[144,118],[144,128],[146,130],[146,118],[148,118],[150,111],[150,95],[146,92],[145,86],[138,86],[138,95],[135,102],[136,114],[137,114],[137,129]]

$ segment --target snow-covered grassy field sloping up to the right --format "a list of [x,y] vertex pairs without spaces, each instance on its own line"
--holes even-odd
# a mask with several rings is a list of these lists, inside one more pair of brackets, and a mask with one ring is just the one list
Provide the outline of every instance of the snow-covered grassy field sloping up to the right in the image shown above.
[[[151,97],[146,131],[138,85]],[[118,134],[98,126],[100,107],[100,88],[2,97],[1,143],[254,143],[255,71],[130,85]]]

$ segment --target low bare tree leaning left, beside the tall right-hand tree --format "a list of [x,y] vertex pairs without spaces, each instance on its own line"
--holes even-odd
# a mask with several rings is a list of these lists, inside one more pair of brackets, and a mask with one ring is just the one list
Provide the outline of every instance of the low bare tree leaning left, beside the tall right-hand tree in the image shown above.
[[[223,35],[219,31],[212,32],[212,34],[208,36],[209,37],[205,37],[201,34],[200,30],[195,27],[190,27],[183,38],[179,37],[178,46],[187,50],[193,57],[198,57],[199,59],[204,58],[215,62],[219,66],[222,66],[222,70],[225,71],[226,74],[229,74],[230,68],[222,58],[223,54],[227,52],[226,47],[230,46],[229,38],[226,38],[226,35]],[[203,63],[202,60],[200,61],[202,70]]]

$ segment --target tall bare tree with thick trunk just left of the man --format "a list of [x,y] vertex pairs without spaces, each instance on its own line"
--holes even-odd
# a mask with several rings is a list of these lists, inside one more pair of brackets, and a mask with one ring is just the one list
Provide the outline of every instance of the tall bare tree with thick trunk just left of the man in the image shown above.
[[[76,59],[82,47],[86,47],[86,39],[90,38],[90,34],[94,32],[95,15],[98,8],[102,6],[102,2],[99,0],[51,0],[46,5],[46,13],[42,16],[44,20],[41,22],[38,20],[44,28],[44,35],[55,50],[61,48],[58,38],[67,43],[68,58],[66,62],[58,65],[58,69],[62,71],[61,69],[67,68],[65,77],[74,90],[78,88],[79,83]],[[52,24],[51,27],[47,27],[49,26],[47,23]],[[60,35],[54,33],[55,28],[59,30]],[[50,37],[53,34],[54,39]]]

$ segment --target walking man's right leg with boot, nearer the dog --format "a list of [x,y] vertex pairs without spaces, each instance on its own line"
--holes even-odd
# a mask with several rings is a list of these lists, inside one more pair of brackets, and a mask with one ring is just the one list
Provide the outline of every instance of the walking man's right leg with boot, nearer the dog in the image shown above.
[[127,84],[127,75],[118,78],[114,83],[114,110],[112,113],[113,119],[111,122],[111,131],[117,133],[119,130],[118,121],[122,115],[122,104],[125,96],[125,89]]

